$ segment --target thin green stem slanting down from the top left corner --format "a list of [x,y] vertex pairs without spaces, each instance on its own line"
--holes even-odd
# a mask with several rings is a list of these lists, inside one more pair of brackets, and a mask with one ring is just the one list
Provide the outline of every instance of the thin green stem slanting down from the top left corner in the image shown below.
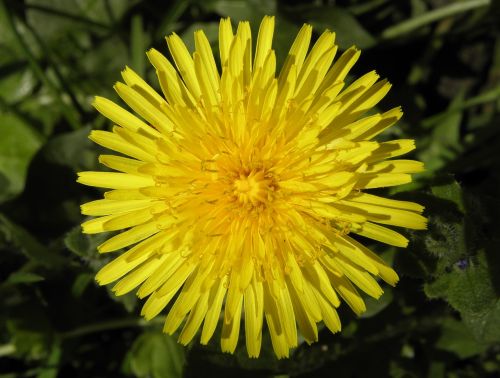
[[68,121],[68,123],[70,124],[70,126],[73,129],[78,129],[79,128],[78,120],[75,119],[73,114],[71,114],[68,106],[62,101],[59,89],[54,85],[54,83],[52,83],[51,80],[49,80],[47,75],[45,75],[45,72],[43,71],[42,67],[38,64],[37,59],[31,52],[26,41],[23,39],[19,31],[17,30],[14,17],[12,16],[12,13],[8,9],[8,7],[5,5],[5,0],[1,0],[0,6],[3,8],[2,11],[6,15],[9,27],[12,30],[12,33],[16,41],[19,43],[19,46],[21,46],[24,56],[28,61],[29,65],[31,66],[33,73],[38,77],[38,79],[42,82],[42,84],[52,93],[54,98],[57,99],[57,101],[60,103],[63,115],[66,121]]

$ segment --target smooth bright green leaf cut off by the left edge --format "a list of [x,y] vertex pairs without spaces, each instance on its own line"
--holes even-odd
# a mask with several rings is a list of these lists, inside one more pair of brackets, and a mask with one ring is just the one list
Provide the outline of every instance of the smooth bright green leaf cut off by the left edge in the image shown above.
[[[28,165],[42,144],[42,138],[19,117],[0,113],[0,203],[24,190]],[[2,180],[3,181],[3,180]]]

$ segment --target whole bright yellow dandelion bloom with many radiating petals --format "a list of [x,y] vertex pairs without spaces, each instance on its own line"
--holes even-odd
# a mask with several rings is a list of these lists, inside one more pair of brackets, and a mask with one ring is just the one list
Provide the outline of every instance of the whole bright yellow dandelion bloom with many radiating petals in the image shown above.
[[167,37],[176,68],[149,50],[163,96],[126,68],[115,89],[141,118],[97,97],[116,126],[90,138],[121,154],[99,158],[118,172],[82,172],[78,181],[111,189],[82,205],[98,216],[83,223],[85,233],[127,229],[98,247],[129,248],[99,271],[101,285],[118,280],[117,295],[138,287],[146,319],[172,302],[164,331],[183,324],[183,344],[200,328],[208,343],[221,318],[222,350],[233,352],[244,320],[248,354],[257,357],[265,319],[282,358],[297,346],[297,326],[308,343],[318,322],[338,332],[340,299],[360,314],[357,289],[378,298],[374,277],[398,281],[350,234],[405,247],[385,225],[424,229],[426,219],[418,204],[363,192],[408,183],[423,169],[388,160],[413,150],[412,140],[373,141],[402,115],[365,115],[390,84],[369,72],[346,85],[360,52],[334,62],[329,31],[309,51],[309,25],[277,74],[273,30],[265,17],[253,55],[248,22],[233,34],[221,20],[221,69],[203,31],[192,55],[176,34]]

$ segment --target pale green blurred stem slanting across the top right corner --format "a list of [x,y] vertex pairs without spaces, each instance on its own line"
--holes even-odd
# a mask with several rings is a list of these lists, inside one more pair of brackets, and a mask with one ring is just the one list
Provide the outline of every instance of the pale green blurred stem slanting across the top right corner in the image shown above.
[[490,0],[469,0],[452,3],[450,5],[431,10],[417,17],[410,18],[399,24],[393,25],[385,29],[381,37],[383,39],[392,39],[399,37],[402,34],[407,34],[415,29],[421,28],[432,22],[441,20],[446,17],[453,16],[454,14],[466,12],[471,9],[484,7],[490,4]]

